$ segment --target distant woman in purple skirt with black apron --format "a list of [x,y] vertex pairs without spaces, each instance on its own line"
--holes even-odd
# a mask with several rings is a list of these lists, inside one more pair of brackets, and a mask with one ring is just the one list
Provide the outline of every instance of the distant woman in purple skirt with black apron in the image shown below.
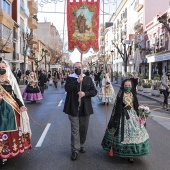
[[31,72],[28,76],[28,85],[24,90],[23,99],[25,101],[36,102],[42,100],[42,94],[38,86],[36,73]]

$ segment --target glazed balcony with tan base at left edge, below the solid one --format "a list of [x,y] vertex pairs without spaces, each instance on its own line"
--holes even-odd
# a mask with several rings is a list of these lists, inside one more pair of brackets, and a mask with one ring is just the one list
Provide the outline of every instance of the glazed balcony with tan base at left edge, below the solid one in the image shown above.
[[12,43],[12,30],[3,24],[0,24],[0,49],[4,53],[12,53],[14,50]]

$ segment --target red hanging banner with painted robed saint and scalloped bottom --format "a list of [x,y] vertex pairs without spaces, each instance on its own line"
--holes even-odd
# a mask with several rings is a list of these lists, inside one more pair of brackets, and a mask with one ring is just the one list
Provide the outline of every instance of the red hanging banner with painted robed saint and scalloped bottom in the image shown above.
[[[72,1],[72,2],[70,2]],[[68,50],[98,51],[100,0],[67,0]]]

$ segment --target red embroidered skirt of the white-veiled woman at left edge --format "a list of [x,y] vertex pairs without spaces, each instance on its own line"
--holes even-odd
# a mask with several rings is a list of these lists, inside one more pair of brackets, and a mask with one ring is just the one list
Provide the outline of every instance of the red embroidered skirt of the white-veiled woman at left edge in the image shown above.
[[31,149],[30,135],[23,134],[20,127],[20,115],[15,111],[17,130],[0,131],[0,159],[13,158]]

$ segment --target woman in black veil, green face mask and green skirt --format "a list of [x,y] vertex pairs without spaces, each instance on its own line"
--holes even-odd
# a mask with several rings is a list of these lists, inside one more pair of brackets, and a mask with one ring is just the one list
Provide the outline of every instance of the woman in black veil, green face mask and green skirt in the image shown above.
[[138,123],[138,100],[132,90],[132,82],[126,79],[115,100],[102,146],[110,155],[133,158],[149,153],[149,135],[145,126]]

